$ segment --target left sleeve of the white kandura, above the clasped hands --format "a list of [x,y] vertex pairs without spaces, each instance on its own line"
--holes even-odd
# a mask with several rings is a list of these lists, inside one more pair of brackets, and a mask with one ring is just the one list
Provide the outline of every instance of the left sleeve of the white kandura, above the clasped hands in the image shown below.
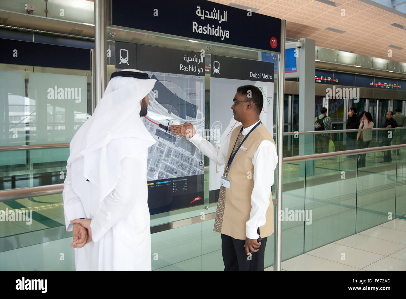
[[70,221],[78,218],[86,218],[86,212],[84,212],[84,207],[78,194],[72,189],[70,165],[66,166],[66,177],[63,183],[62,198],[63,211],[65,214],[65,227],[67,231],[72,231],[73,224],[70,223]]

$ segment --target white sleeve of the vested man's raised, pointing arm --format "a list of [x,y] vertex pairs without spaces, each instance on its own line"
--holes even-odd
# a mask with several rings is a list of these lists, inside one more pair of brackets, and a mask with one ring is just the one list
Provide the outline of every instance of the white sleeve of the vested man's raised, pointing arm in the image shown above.
[[218,165],[223,165],[228,162],[226,161],[228,147],[230,143],[231,133],[227,136],[224,142],[219,146],[211,144],[209,141],[205,140],[199,133],[194,134],[192,138],[189,139],[199,150],[205,154],[209,159],[213,160],[214,163]]

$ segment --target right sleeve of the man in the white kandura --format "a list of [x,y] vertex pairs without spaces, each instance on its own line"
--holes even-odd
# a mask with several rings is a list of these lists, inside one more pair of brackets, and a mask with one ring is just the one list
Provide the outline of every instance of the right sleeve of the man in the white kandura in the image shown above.
[[90,224],[94,242],[98,242],[119,220],[127,217],[134,209],[137,200],[144,200],[140,198],[140,184],[136,183],[145,180],[145,177],[142,177],[145,172],[136,171],[137,165],[143,164],[145,164],[143,155],[125,157],[121,160],[121,173],[117,186],[100,203]]

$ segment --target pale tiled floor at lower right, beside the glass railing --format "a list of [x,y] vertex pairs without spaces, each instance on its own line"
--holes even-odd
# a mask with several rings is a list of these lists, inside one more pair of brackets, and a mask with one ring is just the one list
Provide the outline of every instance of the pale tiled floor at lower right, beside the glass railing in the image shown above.
[[[285,271],[406,271],[406,220],[395,219],[282,262]],[[266,271],[273,271],[269,267]]]

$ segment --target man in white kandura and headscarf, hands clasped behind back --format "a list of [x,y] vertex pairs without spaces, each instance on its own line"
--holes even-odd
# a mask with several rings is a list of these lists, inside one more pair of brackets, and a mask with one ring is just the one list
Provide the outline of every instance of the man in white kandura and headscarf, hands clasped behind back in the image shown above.
[[114,72],[93,116],[73,137],[63,188],[76,271],[151,271],[147,114],[155,80]]

